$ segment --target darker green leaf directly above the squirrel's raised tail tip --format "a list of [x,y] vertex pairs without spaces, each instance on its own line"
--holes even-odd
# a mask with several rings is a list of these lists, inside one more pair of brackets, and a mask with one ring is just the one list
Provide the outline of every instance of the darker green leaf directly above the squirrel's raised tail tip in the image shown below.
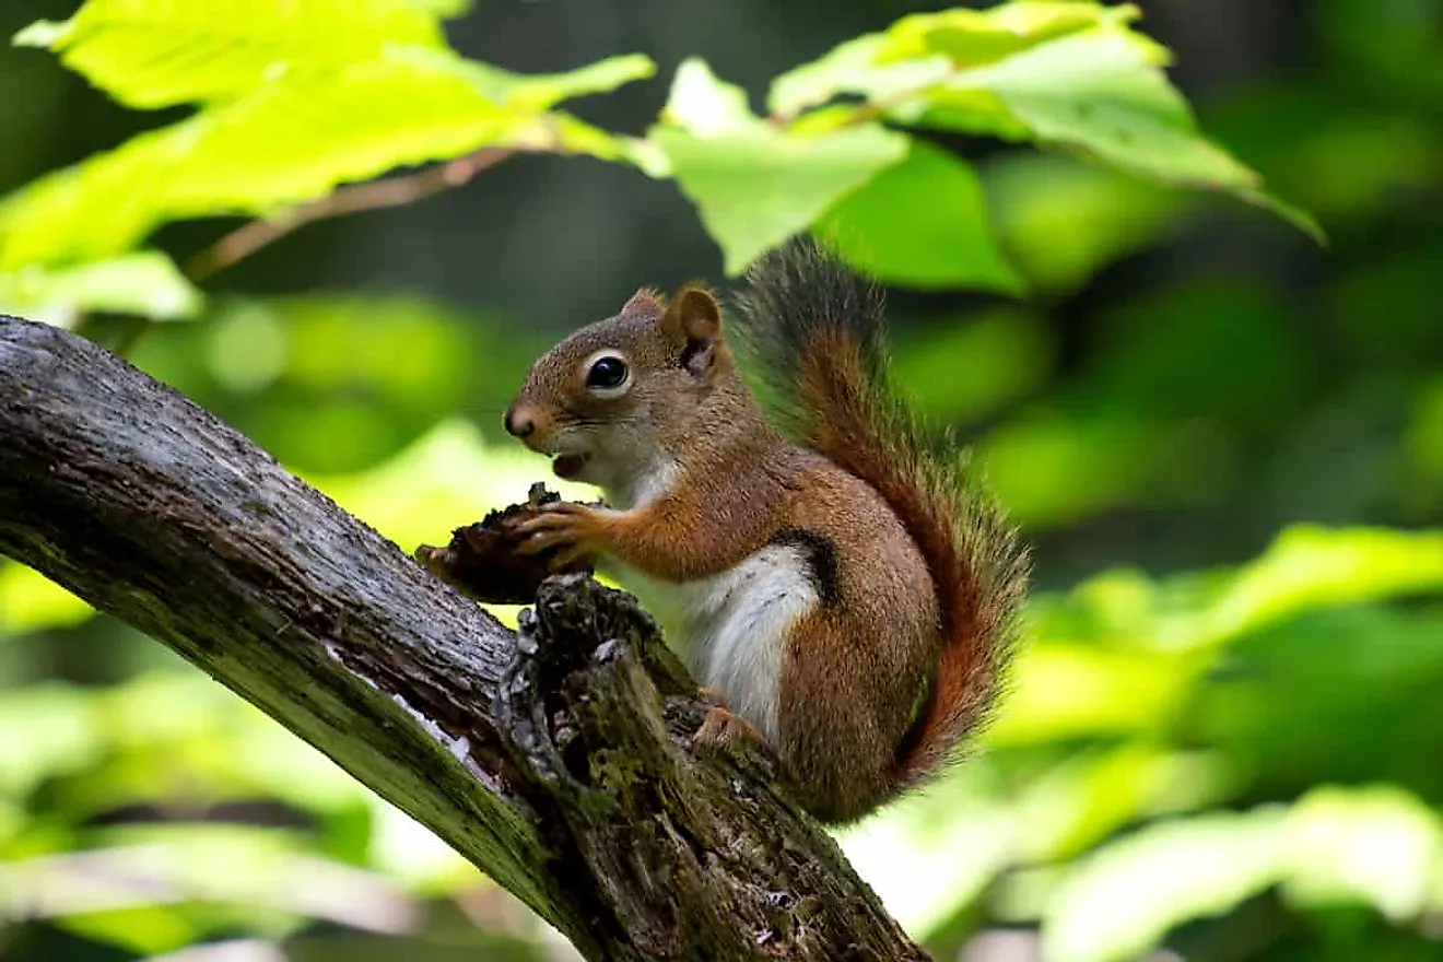
[[922,141],[912,141],[905,160],[844,196],[815,229],[885,283],[1023,290],[997,248],[971,166]]

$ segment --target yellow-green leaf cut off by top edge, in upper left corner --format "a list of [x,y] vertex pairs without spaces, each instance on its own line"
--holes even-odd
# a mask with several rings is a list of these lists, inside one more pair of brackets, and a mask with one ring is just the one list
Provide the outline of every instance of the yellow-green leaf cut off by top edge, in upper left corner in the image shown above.
[[387,46],[446,46],[433,13],[411,0],[88,0],[63,23],[30,25],[14,43],[55,50],[137,108],[234,98]]

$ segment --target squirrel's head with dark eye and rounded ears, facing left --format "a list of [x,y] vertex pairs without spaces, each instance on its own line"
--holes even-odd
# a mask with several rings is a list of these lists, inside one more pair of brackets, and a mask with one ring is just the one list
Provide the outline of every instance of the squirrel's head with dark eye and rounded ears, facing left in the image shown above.
[[506,410],[505,427],[556,456],[558,477],[635,490],[704,443],[703,407],[745,392],[722,339],[722,310],[700,286],[665,301],[639,290],[615,317],[582,327],[541,355]]

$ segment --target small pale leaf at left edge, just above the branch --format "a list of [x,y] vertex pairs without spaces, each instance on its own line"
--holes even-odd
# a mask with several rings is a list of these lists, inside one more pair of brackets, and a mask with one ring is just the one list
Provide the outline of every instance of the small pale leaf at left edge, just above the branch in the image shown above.
[[91,310],[179,320],[193,317],[201,300],[201,291],[159,251],[66,268],[32,264],[0,274],[0,313],[62,327]]

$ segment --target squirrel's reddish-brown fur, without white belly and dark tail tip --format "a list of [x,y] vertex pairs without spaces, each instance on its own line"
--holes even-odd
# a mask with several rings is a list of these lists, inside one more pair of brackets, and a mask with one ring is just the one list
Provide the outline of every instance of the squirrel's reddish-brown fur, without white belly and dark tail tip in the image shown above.
[[[623,395],[587,391],[599,350],[626,358]],[[742,382],[704,288],[670,304],[639,291],[537,361],[508,425],[532,425],[524,440],[537,450],[589,451],[583,479],[644,502],[558,506],[531,525],[532,550],[560,544],[680,583],[726,571],[786,532],[831,547],[831,596],[786,639],[772,747],[810,811],[850,821],[934,770],[977,723],[1020,562],[978,577],[978,560],[1016,555],[1012,542],[991,544],[1010,534],[977,524],[948,472],[909,443],[913,424],[843,326],[814,332],[798,359],[801,444]],[[648,500],[655,479],[671,483]],[[719,740],[740,730],[716,714]]]

